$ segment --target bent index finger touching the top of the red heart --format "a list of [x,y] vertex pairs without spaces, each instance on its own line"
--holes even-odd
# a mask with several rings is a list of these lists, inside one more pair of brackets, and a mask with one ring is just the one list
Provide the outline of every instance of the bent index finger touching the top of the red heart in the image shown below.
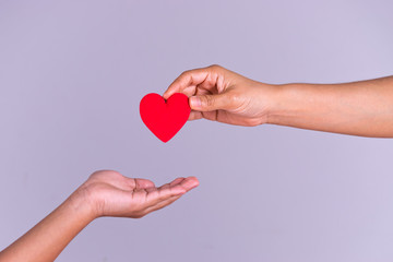
[[164,93],[164,99],[168,99],[175,93],[183,93],[188,87],[195,92],[196,85],[203,83],[207,75],[209,70],[206,68],[193,69],[181,73]]

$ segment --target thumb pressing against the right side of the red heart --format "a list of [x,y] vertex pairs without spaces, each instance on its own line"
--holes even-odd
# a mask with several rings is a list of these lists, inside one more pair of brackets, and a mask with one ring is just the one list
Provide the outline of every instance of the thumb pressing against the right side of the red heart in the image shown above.
[[226,109],[228,99],[224,94],[218,95],[201,95],[190,97],[190,107],[198,111],[214,111],[218,109]]

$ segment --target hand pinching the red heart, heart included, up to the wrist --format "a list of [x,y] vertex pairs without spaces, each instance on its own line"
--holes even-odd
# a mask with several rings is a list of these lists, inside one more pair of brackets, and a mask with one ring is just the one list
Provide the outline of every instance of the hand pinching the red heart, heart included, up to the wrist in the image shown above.
[[147,128],[167,142],[187,119],[204,118],[247,127],[266,123],[275,90],[276,86],[212,66],[183,72],[163,97],[146,95],[140,111]]

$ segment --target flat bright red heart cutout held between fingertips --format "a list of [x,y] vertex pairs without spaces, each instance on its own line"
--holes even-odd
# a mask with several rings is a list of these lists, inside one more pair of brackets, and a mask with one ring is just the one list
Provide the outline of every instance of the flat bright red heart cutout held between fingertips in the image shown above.
[[158,94],[145,95],[140,104],[142,121],[164,143],[184,126],[191,108],[184,94],[176,93],[168,100]]

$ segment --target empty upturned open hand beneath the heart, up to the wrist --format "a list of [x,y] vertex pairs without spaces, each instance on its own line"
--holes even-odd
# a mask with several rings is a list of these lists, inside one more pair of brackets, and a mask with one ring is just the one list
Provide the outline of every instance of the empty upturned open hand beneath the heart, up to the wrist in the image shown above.
[[198,186],[198,179],[189,177],[177,178],[157,188],[147,179],[102,170],[94,172],[79,190],[88,195],[97,217],[139,218],[171,204]]

